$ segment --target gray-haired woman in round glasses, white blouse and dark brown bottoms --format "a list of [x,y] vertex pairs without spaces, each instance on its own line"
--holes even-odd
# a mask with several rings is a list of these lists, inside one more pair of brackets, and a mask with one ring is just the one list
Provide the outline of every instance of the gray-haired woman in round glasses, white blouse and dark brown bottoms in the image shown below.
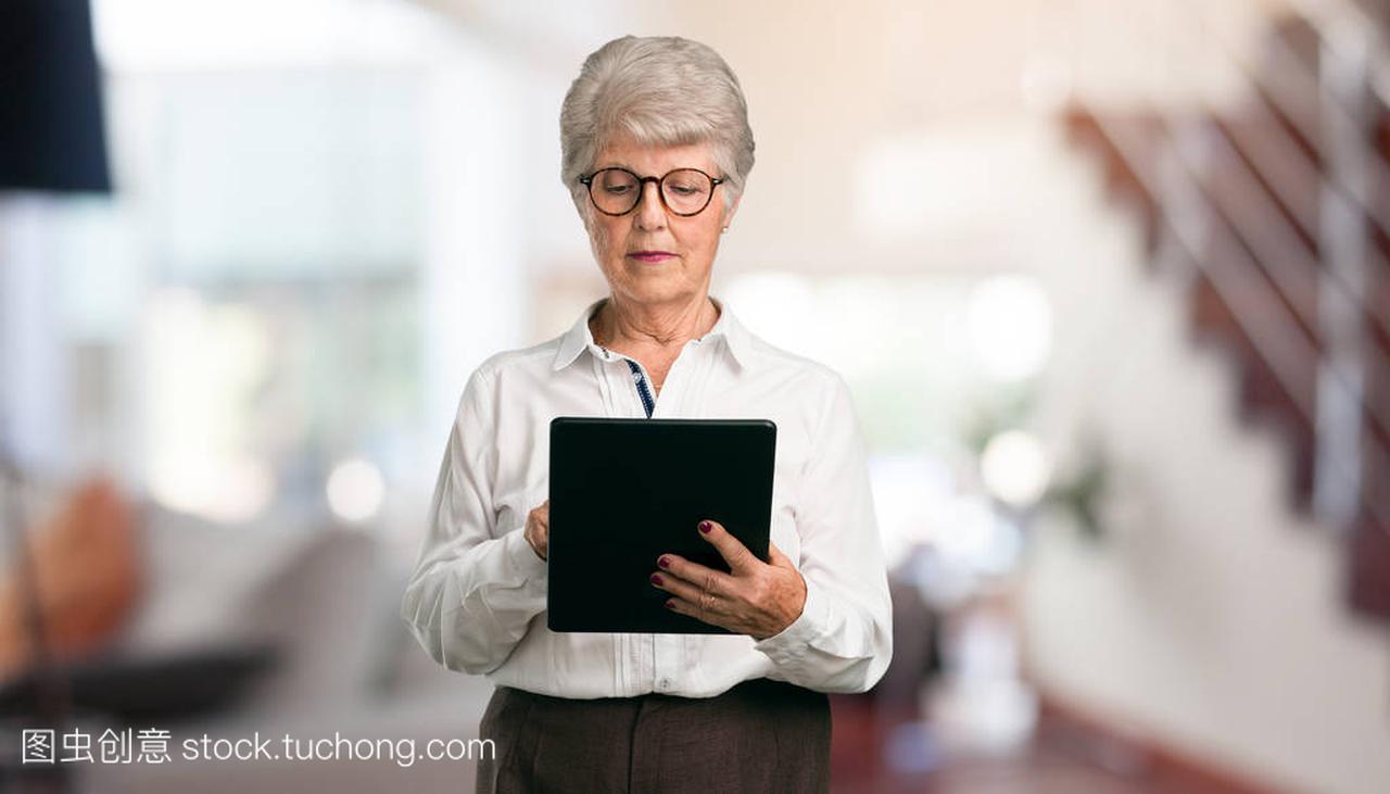
[[[746,115],[723,58],[678,38],[609,42],[564,97],[562,178],[610,293],[563,335],[468,378],[402,605],[436,662],[498,687],[480,726],[496,744],[480,791],[824,791],[824,692],[863,691],[888,665],[849,392],[709,295],[753,165]],[[652,560],[670,609],[734,634],[546,627],[556,416],[777,424],[770,562],[714,520],[689,531],[730,573]],[[612,498],[623,488],[612,483]]]

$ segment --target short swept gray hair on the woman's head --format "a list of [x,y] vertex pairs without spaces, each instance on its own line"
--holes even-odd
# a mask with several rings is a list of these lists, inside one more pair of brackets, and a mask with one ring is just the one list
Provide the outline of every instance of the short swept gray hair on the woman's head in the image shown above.
[[580,177],[612,139],[646,146],[710,143],[730,202],[753,170],[753,131],[734,70],[680,36],[623,36],[595,50],[560,106],[560,179],[580,211]]

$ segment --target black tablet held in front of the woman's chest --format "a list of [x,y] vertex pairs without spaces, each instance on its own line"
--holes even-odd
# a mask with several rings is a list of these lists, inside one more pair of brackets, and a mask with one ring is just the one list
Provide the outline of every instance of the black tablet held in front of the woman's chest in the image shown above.
[[767,560],[776,449],[767,420],[552,420],[546,626],[728,634],[666,609],[649,577],[663,552],[728,570],[703,519]]

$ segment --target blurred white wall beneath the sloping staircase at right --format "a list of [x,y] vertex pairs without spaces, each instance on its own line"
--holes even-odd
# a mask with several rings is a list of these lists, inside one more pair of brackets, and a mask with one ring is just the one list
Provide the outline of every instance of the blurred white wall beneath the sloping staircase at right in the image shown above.
[[1337,538],[1286,508],[1284,448],[1238,421],[1236,368],[1193,345],[1176,279],[1138,270],[1119,210],[1093,211],[1073,267],[1051,274],[1040,424],[1063,452],[1098,431],[1118,496],[1104,544],[1036,527],[1031,674],[1252,780],[1390,791],[1390,630],[1343,606]]

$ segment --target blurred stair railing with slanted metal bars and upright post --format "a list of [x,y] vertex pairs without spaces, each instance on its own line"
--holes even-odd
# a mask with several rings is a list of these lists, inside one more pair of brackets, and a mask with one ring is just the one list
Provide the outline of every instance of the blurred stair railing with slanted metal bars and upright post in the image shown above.
[[[1200,14],[1194,10],[1193,19],[1211,40],[1215,36],[1209,35],[1211,26]],[[1279,56],[1277,47],[1284,43],[1273,46]],[[1322,63],[1332,63],[1332,58],[1325,56]],[[1311,85],[1316,89],[1318,107],[1332,108],[1326,129],[1308,127],[1307,95],[1295,99],[1289,90],[1269,85],[1270,81],[1250,64],[1243,64],[1240,72],[1252,104],[1266,121],[1275,121],[1276,111],[1289,117],[1316,154],[1326,164],[1336,164],[1326,174],[1277,122],[1262,125],[1265,133],[1250,140],[1234,133],[1237,131],[1218,133],[1209,127],[1175,125],[1162,117],[1155,121],[1156,128],[1150,129],[1101,114],[1091,114],[1091,118],[1148,193],[1158,220],[1184,257],[1202,268],[1255,353],[1314,428],[1319,515],[1337,526],[1348,526],[1357,509],[1364,506],[1377,526],[1390,531],[1390,505],[1375,498],[1362,483],[1368,463],[1372,463],[1371,471],[1390,471],[1390,449],[1365,432],[1369,421],[1390,435],[1390,406],[1376,405],[1365,394],[1365,367],[1371,363],[1387,366],[1390,356],[1377,345],[1364,343],[1368,334],[1362,327],[1368,314],[1362,300],[1368,267],[1384,267],[1383,257],[1368,245],[1366,218],[1377,225],[1382,222],[1373,213],[1373,189],[1382,177],[1383,184],[1390,185],[1390,167],[1366,143],[1365,122],[1357,121],[1358,114],[1362,118],[1366,114],[1357,107],[1348,108],[1346,97],[1351,92],[1344,85],[1322,86],[1305,64],[1287,53],[1279,63],[1282,71],[1291,70],[1295,75],[1287,82],[1276,81],[1279,86],[1302,85],[1307,89]],[[1351,71],[1350,82],[1359,75],[1359,85],[1366,85],[1366,58],[1352,63],[1359,64],[1359,71]],[[1348,82],[1346,72],[1339,72],[1336,79]],[[1337,72],[1323,70],[1323,79],[1333,79],[1333,74]],[[1340,99],[1330,99],[1333,93]],[[1211,111],[1209,115],[1218,114]],[[1259,175],[1232,140],[1247,153],[1255,152]],[[1155,150],[1156,172],[1151,165]],[[1202,189],[1202,179],[1213,154],[1225,157],[1232,178],[1209,196]],[[1316,217],[1297,196],[1308,184],[1319,186]],[[1275,199],[1289,210],[1294,224],[1284,218]],[[1357,220],[1362,224],[1359,228]],[[1384,232],[1390,236],[1390,217],[1384,221]],[[1316,241],[1318,250],[1309,250],[1304,238]],[[1327,267],[1318,267],[1320,261]],[[1309,299],[1312,295],[1316,298]],[[1270,314],[1272,307],[1284,305],[1293,314],[1291,323]],[[1390,318],[1372,317],[1372,323],[1390,330]],[[1322,350],[1314,339],[1323,345]],[[1316,384],[1315,399],[1302,388],[1308,382]]]

